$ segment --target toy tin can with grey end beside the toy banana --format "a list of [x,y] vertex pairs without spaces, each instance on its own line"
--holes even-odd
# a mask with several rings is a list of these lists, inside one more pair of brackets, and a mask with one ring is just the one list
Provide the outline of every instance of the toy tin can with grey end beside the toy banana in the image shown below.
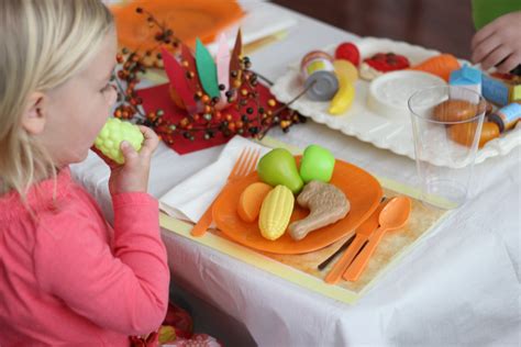
[[311,100],[331,100],[339,90],[333,57],[325,52],[312,51],[308,53],[300,63],[300,72],[304,87],[309,88],[306,94]]

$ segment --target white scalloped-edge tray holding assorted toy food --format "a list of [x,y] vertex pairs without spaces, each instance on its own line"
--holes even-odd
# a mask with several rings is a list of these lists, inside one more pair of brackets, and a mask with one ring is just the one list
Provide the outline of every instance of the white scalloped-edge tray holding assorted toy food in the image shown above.
[[[411,65],[415,65],[428,57],[440,54],[437,51],[426,49],[403,42],[386,38],[367,37],[356,42],[362,58],[372,56],[378,52],[395,52],[407,56]],[[329,52],[333,52],[330,47]],[[275,81],[270,91],[281,102],[289,102],[301,90],[298,64],[293,64],[288,71]],[[389,149],[396,154],[414,159],[414,145],[412,141],[412,127],[409,114],[402,119],[376,114],[367,108],[367,91],[369,82],[358,80],[356,82],[356,97],[352,108],[343,115],[332,116],[328,113],[329,102],[317,102],[309,100],[306,96],[291,104],[291,108],[300,114],[311,117],[317,123],[339,130],[342,133],[355,136],[363,142],[368,142],[376,147]],[[487,158],[508,154],[514,147],[521,145],[521,126],[508,131],[501,137],[487,143],[478,150],[476,163]],[[452,163],[433,163],[437,166],[452,167]]]

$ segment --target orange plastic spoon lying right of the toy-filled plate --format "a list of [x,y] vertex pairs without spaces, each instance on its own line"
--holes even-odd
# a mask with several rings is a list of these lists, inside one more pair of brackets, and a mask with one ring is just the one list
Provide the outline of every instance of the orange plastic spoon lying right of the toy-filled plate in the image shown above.
[[356,281],[364,271],[370,256],[375,253],[376,247],[381,240],[385,232],[393,231],[406,225],[411,212],[411,200],[407,197],[392,198],[381,210],[378,217],[380,227],[370,236],[369,242],[362,249],[361,254],[351,264],[342,278],[346,281]]

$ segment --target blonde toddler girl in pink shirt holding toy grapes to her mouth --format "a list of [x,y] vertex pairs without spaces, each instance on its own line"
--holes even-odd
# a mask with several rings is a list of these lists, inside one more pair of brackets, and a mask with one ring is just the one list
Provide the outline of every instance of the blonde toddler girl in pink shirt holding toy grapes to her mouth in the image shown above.
[[115,101],[115,49],[99,0],[0,0],[0,346],[128,346],[165,317],[157,136],[121,146],[113,230],[68,169]]

